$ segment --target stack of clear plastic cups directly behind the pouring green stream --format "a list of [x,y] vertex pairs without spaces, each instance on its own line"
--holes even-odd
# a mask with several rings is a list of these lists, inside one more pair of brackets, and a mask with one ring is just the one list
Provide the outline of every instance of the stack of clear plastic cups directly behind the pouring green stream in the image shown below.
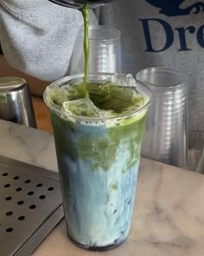
[[[76,37],[73,54],[69,64],[68,74],[84,72],[84,31],[79,30]],[[89,73],[120,73],[122,70],[121,33],[109,26],[89,27]]]

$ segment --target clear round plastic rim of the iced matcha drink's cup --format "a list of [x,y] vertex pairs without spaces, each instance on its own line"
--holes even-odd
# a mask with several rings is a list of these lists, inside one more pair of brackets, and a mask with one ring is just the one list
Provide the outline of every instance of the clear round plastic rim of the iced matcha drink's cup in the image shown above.
[[[118,73],[90,73],[90,74],[88,74],[88,77],[90,77],[91,75],[109,75],[111,77],[111,75],[114,75],[114,74],[124,75],[124,74],[121,74],[121,73],[119,73],[119,74]],[[52,82],[51,84],[49,84],[46,87],[46,89],[44,90],[44,93],[43,93],[43,100],[46,103],[46,105],[48,106],[48,108],[53,110],[55,113],[57,113],[59,115],[64,115],[65,117],[67,117],[67,120],[73,118],[76,121],[77,120],[80,120],[80,121],[81,120],[82,121],[112,121],[112,120],[114,120],[115,121],[115,120],[120,120],[121,118],[131,117],[131,116],[134,116],[134,115],[139,115],[144,110],[146,110],[150,107],[153,96],[151,94],[150,89],[145,84],[143,84],[141,82],[137,82],[137,84],[145,90],[146,95],[148,95],[148,97],[149,97],[148,101],[143,105],[142,108],[139,108],[135,111],[132,111],[131,113],[124,114],[124,115],[111,116],[111,117],[95,117],[95,116],[88,117],[88,116],[82,116],[82,115],[69,115],[66,112],[63,112],[58,108],[54,108],[54,106],[50,102],[48,102],[48,99],[47,99],[48,89],[50,89],[52,87],[56,87],[56,85],[58,85],[58,87],[63,86],[63,84],[65,84],[65,82],[72,81],[75,78],[83,78],[83,77],[84,77],[83,73],[75,74],[75,75],[67,75],[67,76],[64,76],[64,77]]]

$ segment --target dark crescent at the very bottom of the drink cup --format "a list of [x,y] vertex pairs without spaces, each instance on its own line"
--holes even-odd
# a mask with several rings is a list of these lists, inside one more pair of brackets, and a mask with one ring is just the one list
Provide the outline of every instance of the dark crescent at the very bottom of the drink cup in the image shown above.
[[85,245],[82,245],[82,244],[76,242],[75,240],[73,240],[73,238],[69,235],[69,233],[67,233],[67,235],[68,235],[68,238],[76,246],[79,246],[82,249],[86,249],[86,250],[89,250],[89,251],[95,251],[95,252],[104,252],[104,251],[115,249],[118,246],[121,246],[125,242],[125,240],[127,240],[127,238],[125,238],[121,242],[118,243],[118,241],[116,241],[115,243],[113,243],[112,245],[109,245],[109,246],[85,246]]

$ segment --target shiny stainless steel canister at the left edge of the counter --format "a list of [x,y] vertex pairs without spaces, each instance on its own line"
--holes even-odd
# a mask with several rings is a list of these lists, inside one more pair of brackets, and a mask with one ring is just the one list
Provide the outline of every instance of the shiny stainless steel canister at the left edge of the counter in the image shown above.
[[0,119],[36,128],[28,83],[20,77],[0,77]]

